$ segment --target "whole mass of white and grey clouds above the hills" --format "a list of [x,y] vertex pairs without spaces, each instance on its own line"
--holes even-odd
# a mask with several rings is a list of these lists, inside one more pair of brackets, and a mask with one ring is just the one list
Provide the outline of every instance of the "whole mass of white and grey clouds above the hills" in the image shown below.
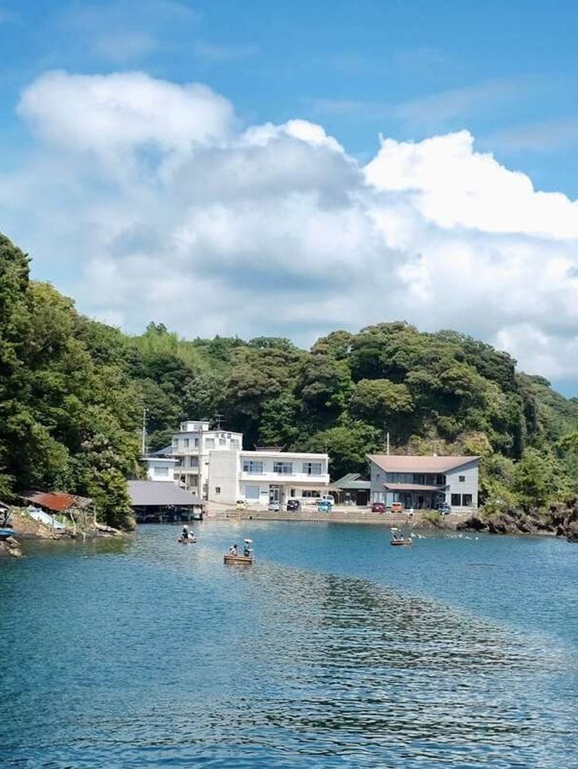
[[578,380],[578,204],[467,131],[361,167],[319,125],[239,128],[209,88],[138,72],[43,75],[18,112],[38,145],[3,226],[83,311],[302,344],[407,318]]

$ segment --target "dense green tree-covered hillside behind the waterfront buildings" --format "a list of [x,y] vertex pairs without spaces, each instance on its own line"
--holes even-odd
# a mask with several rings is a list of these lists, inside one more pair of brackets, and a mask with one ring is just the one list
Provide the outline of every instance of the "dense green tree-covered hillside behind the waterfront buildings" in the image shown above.
[[332,478],[392,450],[483,455],[488,509],[543,506],[576,487],[578,400],[510,355],[456,331],[403,321],[333,331],[308,351],[288,339],[179,339],[151,323],[130,337],[29,280],[0,236],[0,494],[61,488],[127,520],[123,478],[182,418],[223,414],[246,447],[329,451]]

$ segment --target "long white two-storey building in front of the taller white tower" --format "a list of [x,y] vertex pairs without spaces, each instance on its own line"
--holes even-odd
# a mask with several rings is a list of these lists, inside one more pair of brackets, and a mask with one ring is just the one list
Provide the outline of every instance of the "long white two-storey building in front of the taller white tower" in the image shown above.
[[211,451],[209,501],[268,505],[302,504],[329,494],[329,457],[299,451]]

